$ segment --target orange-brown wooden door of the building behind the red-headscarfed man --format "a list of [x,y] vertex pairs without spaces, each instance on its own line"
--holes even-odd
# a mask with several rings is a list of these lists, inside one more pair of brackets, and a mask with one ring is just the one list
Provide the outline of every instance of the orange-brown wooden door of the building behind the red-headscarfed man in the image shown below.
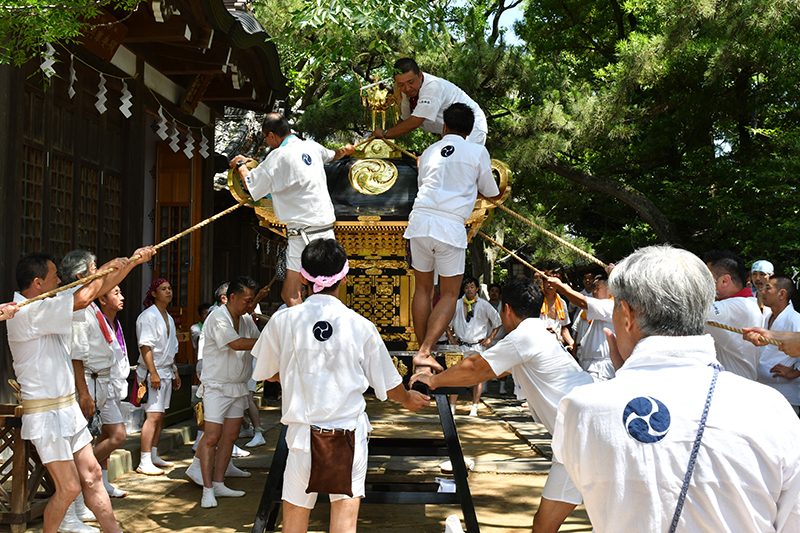
[[[159,243],[200,222],[202,158],[173,152],[167,143],[158,146],[156,178],[155,242]],[[175,320],[180,349],[178,363],[194,363],[189,328],[197,322],[200,299],[200,234],[186,237],[159,249],[153,278],[172,285],[172,302],[167,311]]]

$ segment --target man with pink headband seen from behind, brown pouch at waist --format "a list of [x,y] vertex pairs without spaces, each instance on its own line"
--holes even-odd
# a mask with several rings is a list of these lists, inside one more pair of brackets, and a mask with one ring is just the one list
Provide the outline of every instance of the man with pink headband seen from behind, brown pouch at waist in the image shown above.
[[367,436],[371,430],[363,394],[367,387],[416,411],[430,398],[408,391],[378,330],[338,298],[348,271],[347,254],[333,239],[311,242],[302,256],[303,278],[313,294],[303,305],[272,316],[253,348],[253,379],[280,381],[281,423],[289,457],[283,481],[284,530],[307,531],[317,493],[306,494],[311,468],[310,425],[355,430],[352,494],[331,494],[331,531],[355,531],[365,494]]

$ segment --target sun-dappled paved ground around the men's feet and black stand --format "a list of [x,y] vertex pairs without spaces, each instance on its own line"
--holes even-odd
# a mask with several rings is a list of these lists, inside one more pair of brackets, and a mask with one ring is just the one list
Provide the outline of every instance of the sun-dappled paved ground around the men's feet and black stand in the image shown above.
[[[481,532],[530,531],[533,515],[539,504],[542,487],[550,468],[550,435],[541,424],[533,422],[521,402],[492,394],[497,383],[490,384],[478,417],[468,417],[470,404],[462,397],[456,415],[456,425],[464,454],[475,460],[470,473],[470,491]],[[368,399],[370,420],[376,437],[441,437],[441,427],[435,407],[419,413],[408,413],[391,401]],[[165,430],[159,455],[175,462],[165,476],[143,476],[127,472],[113,483],[127,490],[128,496],[113,500],[117,520],[126,533],[144,532],[250,532],[263,492],[275,443],[280,429],[280,405],[261,408],[262,426],[266,429],[266,446],[251,449],[252,455],[235,459],[250,478],[229,479],[231,488],[244,490],[242,498],[220,498],[216,509],[200,507],[200,487],[189,481],[184,472],[191,464],[190,439],[194,438],[193,423]],[[239,439],[241,447],[248,439]],[[129,437],[128,462],[138,462],[138,434]],[[125,455],[125,452],[121,452]],[[368,479],[373,481],[433,481],[442,474],[435,457],[373,457]],[[120,461],[119,459],[117,461]],[[119,468],[132,468],[123,465]],[[114,467],[112,467],[112,471]],[[329,505],[319,504],[311,514],[309,531],[327,531]],[[456,514],[462,518],[458,505],[363,505],[359,513],[360,531],[396,533],[441,533],[444,521]],[[96,524],[95,524],[96,525]],[[463,520],[462,520],[463,525]],[[586,511],[579,506],[567,519],[561,531],[591,531]],[[277,528],[280,531],[280,523]],[[8,526],[0,526],[8,531]],[[27,531],[39,533],[41,521],[30,523]]]

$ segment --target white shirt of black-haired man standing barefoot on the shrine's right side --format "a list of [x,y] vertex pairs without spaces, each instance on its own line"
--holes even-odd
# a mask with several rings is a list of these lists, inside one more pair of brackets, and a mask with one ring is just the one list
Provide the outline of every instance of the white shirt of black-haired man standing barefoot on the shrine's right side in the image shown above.
[[478,192],[487,197],[500,194],[486,148],[452,134],[420,156],[417,185],[403,236],[431,237],[457,248],[467,247],[464,223],[472,214]]

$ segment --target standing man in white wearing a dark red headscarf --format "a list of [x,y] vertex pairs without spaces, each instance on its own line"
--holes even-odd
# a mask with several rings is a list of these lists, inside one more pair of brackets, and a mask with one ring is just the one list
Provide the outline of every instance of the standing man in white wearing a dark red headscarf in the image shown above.
[[160,467],[173,466],[173,463],[158,456],[164,413],[169,409],[172,389],[181,387],[181,378],[175,366],[175,354],[178,353],[175,321],[167,313],[167,305],[171,301],[172,287],[169,282],[163,278],[153,281],[142,302],[144,311],[136,319],[140,352],[136,377],[139,383],[147,382],[149,394],[147,403],[143,404],[147,414],[142,425],[142,453],[136,471],[150,476],[163,474]]

